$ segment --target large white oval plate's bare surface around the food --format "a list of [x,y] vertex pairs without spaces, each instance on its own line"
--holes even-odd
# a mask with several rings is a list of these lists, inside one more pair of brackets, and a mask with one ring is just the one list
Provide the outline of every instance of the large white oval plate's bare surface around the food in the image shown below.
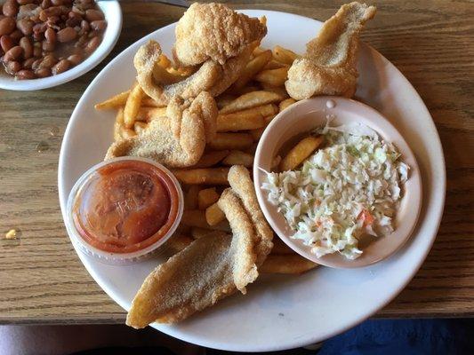
[[[283,45],[302,52],[317,34],[317,20],[261,10],[269,34],[264,47]],[[112,142],[113,112],[93,105],[130,88],[135,77],[133,55],[149,39],[170,53],[174,24],[158,29],[113,59],[92,81],[77,103],[60,151],[58,185],[64,216],[69,190],[76,179],[100,162]],[[395,256],[363,269],[320,267],[301,276],[263,276],[246,296],[231,296],[178,325],[153,325],[189,343],[229,351],[277,351],[316,343],[353,327],[388,304],[419,269],[433,243],[445,202],[446,171],[438,132],[422,99],[396,67],[363,45],[359,56],[357,98],[373,106],[406,138],[422,173],[423,207],[413,237]],[[164,261],[101,264],[77,251],[87,271],[108,296],[125,310],[148,273]]]

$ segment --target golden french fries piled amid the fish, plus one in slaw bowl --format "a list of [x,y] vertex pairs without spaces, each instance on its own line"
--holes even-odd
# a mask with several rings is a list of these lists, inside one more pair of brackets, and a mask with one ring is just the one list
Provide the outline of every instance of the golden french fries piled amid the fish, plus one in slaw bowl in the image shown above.
[[[289,67],[299,56],[281,46],[273,50],[256,47],[242,75],[232,86],[215,98],[220,109],[217,135],[206,145],[205,154],[197,164],[185,170],[173,170],[185,193],[184,215],[177,233],[167,242],[174,251],[216,230],[229,232],[229,223],[217,201],[228,183],[229,167],[244,165],[251,169],[253,155],[263,130],[286,107],[296,102],[285,91]],[[162,55],[156,71],[169,83],[181,81],[192,74],[189,68],[173,67]],[[117,110],[114,139],[140,135],[149,122],[166,115],[166,107],[157,105],[138,83],[133,87],[95,105],[98,110]],[[273,165],[280,170],[296,168],[320,144],[320,138],[308,137],[294,146]],[[275,247],[261,272],[301,273],[315,264],[293,252],[274,238]]]

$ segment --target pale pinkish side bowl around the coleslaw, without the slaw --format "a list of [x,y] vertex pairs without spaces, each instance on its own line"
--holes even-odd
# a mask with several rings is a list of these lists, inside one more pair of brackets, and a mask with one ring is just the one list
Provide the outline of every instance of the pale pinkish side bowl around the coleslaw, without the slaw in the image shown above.
[[[270,171],[273,157],[278,154],[285,142],[301,133],[325,125],[328,115],[333,115],[332,125],[360,122],[377,131],[382,139],[392,142],[398,148],[402,154],[401,159],[410,167],[395,219],[394,233],[372,241],[363,248],[363,254],[355,260],[349,260],[338,253],[318,258],[302,241],[293,240],[291,236],[294,231],[286,223],[285,217],[277,211],[277,207],[269,203],[267,192],[261,189],[261,184],[267,178],[264,171]],[[253,181],[263,214],[280,239],[301,256],[317,264],[336,268],[355,268],[374,264],[395,253],[409,239],[422,207],[420,170],[405,139],[374,108],[351,99],[338,97],[306,99],[277,114],[257,146],[253,163]]]

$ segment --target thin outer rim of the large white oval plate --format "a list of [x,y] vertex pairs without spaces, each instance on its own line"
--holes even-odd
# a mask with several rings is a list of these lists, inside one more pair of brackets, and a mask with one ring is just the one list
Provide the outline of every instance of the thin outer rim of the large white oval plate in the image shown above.
[[[270,11],[270,10],[238,10],[238,9],[236,11],[237,12],[243,12],[243,13],[249,15],[249,16],[254,16],[254,17],[255,16],[258,17],[258,16],[265,15],[265,14],[267,14],[267,15],[274,14],[276,16],[278,16],[278,15],[291,16],[296,21],[297,20],[302,20],[302,21],[311,20],[311,21],[314,21],[315,23],[318,23],[318,24],[322,23],[322,21],[310,19],[308,17],[297,15],[297,14],[294,14],[294,13],[289,13],[289,12],[277,12],[277,11]],[[166,29],[173,28],[175,25],[176,25],[176,22],[174,22],[170,25],[167,25],[163,28],[159,28],[156,31],[153,31],[152,33],[150,33],[149,35],[142,37],[140,40],[138,40],[135,43],[146,42],[149,39],[155,38],[155,36],[157,36],[157,33],[159,33],[160,31],[164,31]],[[135,43],[131,44],[128,48],[133,47],[133,45]],[[440,199],[438,199],[438,201],[435,201],[434,203],[431,204],[431,208],[435,209],[435,211],[431,212],[431,214],[434,214],[434,216],[430,216],[430,217],[435,217],[436,223],[432,224],[431,233],[430,233],[431,234],[430,243],[427,245],[427,248],[422,252],[422,256],[419,258],[418,262],[416,264],[414,264],[412,272],[410,272],[409,274],[406,274],[406,279],[405,279],[404,282],[401,283],[401,286],[398,289],[398,291],[394,292],[393,294],[391,294],[390,296],[388,296],[387,298],[383,299],[378,304],[376,304],[371,312],[366,312],[364,315],[361,315],[361,316],[358,316],[355,319],[352,319],[352,321],[345,324],[344,327],[338,327],[337,330],[334,330],[332,332],[327,332],[323,337],[321,337],[319,335],[315,336],[315,335],[305,334],[304,336],[301,336],[297,339],[292,339],[290,341],[286,341],[285,343],[266,344],[266,345],[261,345],[261,346],[254,346],[252,344],[242,344],[242,343],[240,343],[238,345],[235,345],[235,344],[229,344],[229,343],[224,343],[224,342],[216,342],[216,341],[212,341],[212,340],[207,340],[207,338],[199,336],[199,335],[193,335],[193,334],[190,334],[189,332],[181,332],[180,330],[176,329],[175,327],[169,327],[169,326],[165,326],[165,325],[157,325],[156,323],[151,324],[150,325],[151,327],[154,327],[157,330],[159,330],[159,331],[161,331],[161,332],[163,332],[167,335],[171,335],[173,337],[176,337],[176,338],[181,339],[181,340],[183,340],[185,342],[188,342],[188,343],[195,343],[195,344],[200,345],[200,346],[210,347],[210,348],[214,348],[214,349],[221,349],[221,350],[224,350],[224,351],[248,351],[248,352],[251,352],[251,351],[282,351],[282,350],[286,350],[286,349],[293,349],[293,348],[308,345],[310,343],[318,343],[318,342],[324,341],[325,339],[328,339],[328,338],[330,338],[334,335],[339,335],[339,334],[343,333],[344,331],[348,330],[349,328],[358,325],[360,322],[368,319],[375,312],[380,311],[384,306],[389,304],[396,296],[398,296],[399,292],[403,288],[406,288],[406,285],[413,279],[414,274],[420,269],[420,266],[422,265],[422,263],[425,260],[426,256],[430,252],[430,248],[431,248],[433,242],[435,241],[435,237],[438,233],[438,228],[439,228],[439,225],[441,223],[441,217],[443,215],[443,209],[444,209],[445,198],[446,198],[446,163],[445,163],[445,157],[444,157],[444,154],[443,154],[443,151],[442,151],[442,146],[441,146],[441,141],[439,139],[438,131],[436,130],[436,126],[433,122],[433,119],[430,115],[430,112],[428,111],[428,108],[423,103],[422,98],[420,97],[418,92],[414,90],[413,85],[410,82],[408,82],[405,75],[403,75],[398,70],[397,67],[395,67],[393,64],[391,64],[388,59],[385,59],[385,57],[383,57],[382,54],[380,54],[378,51],[375,51],[372,47],[370,47],[368,45],[366,45],[366,47],[368,47],[370,51],[373,51],[378,56],[380,56],[380,59],[384,63],[386,63],[387,66],[391,67],[395,71],[395,73],[397,73],[399,75],[399,77],[405,83],[406,89],[408,91],[411,91],[410,93],[412,94],[412,97],[415,101],[415,104],[417,106],[419,106],[422,109],[422,111],[424,111],[425,116],[430,118],[430,121],[431,121],[431,127],[430,128],[431,128],[431,130],[433,130],[433,132],[435,132],[435,137],[436,137],[435,144],[437,146],[439,146],[439,148],[440,148],[439,159],[441,160],[442,165],[444,167],[444,169],[442,171],[439,171],[442,174],[441,176],[439,176],[439,178],[441,180],[440,182],[441,182],[441,187],[442,187],[442,189],[441,189],[442,196],[441,196]],[[124,51],[126,51],[127,49],[125,49]],[[115,59],[112,59],[108,63],[108,65],[102,69],[102,71],[106,71],[110,67],[113,67],[114,64],[116,63],[116,61],[118,61],[119,57],[120,57],[120,54]],[[93,84],[96,83],[98,80],[99,80],[99,75],[96,78],[94,78],[92,83],[89,84],[88,88],[84,91],[83,96],[81,97],[81,99],[79,99],[76,106],[79,106],[85,100],[85,97],[87,96],[88,92],[92,91]],[[76,115],[78,115],[78,112],[76,112],[76,109],[75,109],[74,112],[71,114],[71,119],[73,119]],[[67,129],[64,133],[63,145],[64,145],[64,142],[67,141],[69,136],[71,135],[71,132],[72,132],[71,126],[72,125],[68,124],[68,127],[67,127]],[[65,162],[65,153],[64,153],[64,150],[62,149],[62,146],[61,146],[59,169],[58,169],[58,192],[59,192],[59,195],[60,195],[60,208],[61,208],[63,218],[65,217],[64,216],[64,213],[65,213],[64,203],[65,203],[65,201],[63,201],[62,196],[64,195],[65,186],[63,185],[63,182],[61,181],[60,172],[64,168],[65,164],[66,164],[66,162]],[[436,204],[437,202],[438,202],[438,204],[433,207],[433,205]],[[77,251],[78,250],[76,250],[76,252]],[[125,299],[123,299],[121,296],[111,294],[109,292],[109,290],[104,287],[103,283],[100,281],[99,274],[91,267],[90,264],[87,264],[87,260],[85,259],[85,256],[83,256],[81,254],[82,253],[77,253],[79,258],[81,259],[81,262],[84,264],[84,268],[87,270],[87,272],[89,272],[91,274],[92,278],[99,284],[100,288],[102,288],[104,290],[104,292],[106,292],[108,294],[108,296],[110,298],[112,298],[117,304],[119,304],[125,311],[128,311],[129,304],[127,304]]]

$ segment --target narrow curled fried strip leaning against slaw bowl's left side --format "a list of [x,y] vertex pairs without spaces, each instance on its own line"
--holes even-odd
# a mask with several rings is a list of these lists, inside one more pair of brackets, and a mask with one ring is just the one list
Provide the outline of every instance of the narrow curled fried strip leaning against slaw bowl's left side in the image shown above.
[[273,231],[265,217],[263,217],[249,171],[242,165],[234,165],[229,170],[228,178],[232,191],[242,201],[255,226],[255,233],[257,234],[257,241],[255,242],[256,264],[260,266],[273,248]]

